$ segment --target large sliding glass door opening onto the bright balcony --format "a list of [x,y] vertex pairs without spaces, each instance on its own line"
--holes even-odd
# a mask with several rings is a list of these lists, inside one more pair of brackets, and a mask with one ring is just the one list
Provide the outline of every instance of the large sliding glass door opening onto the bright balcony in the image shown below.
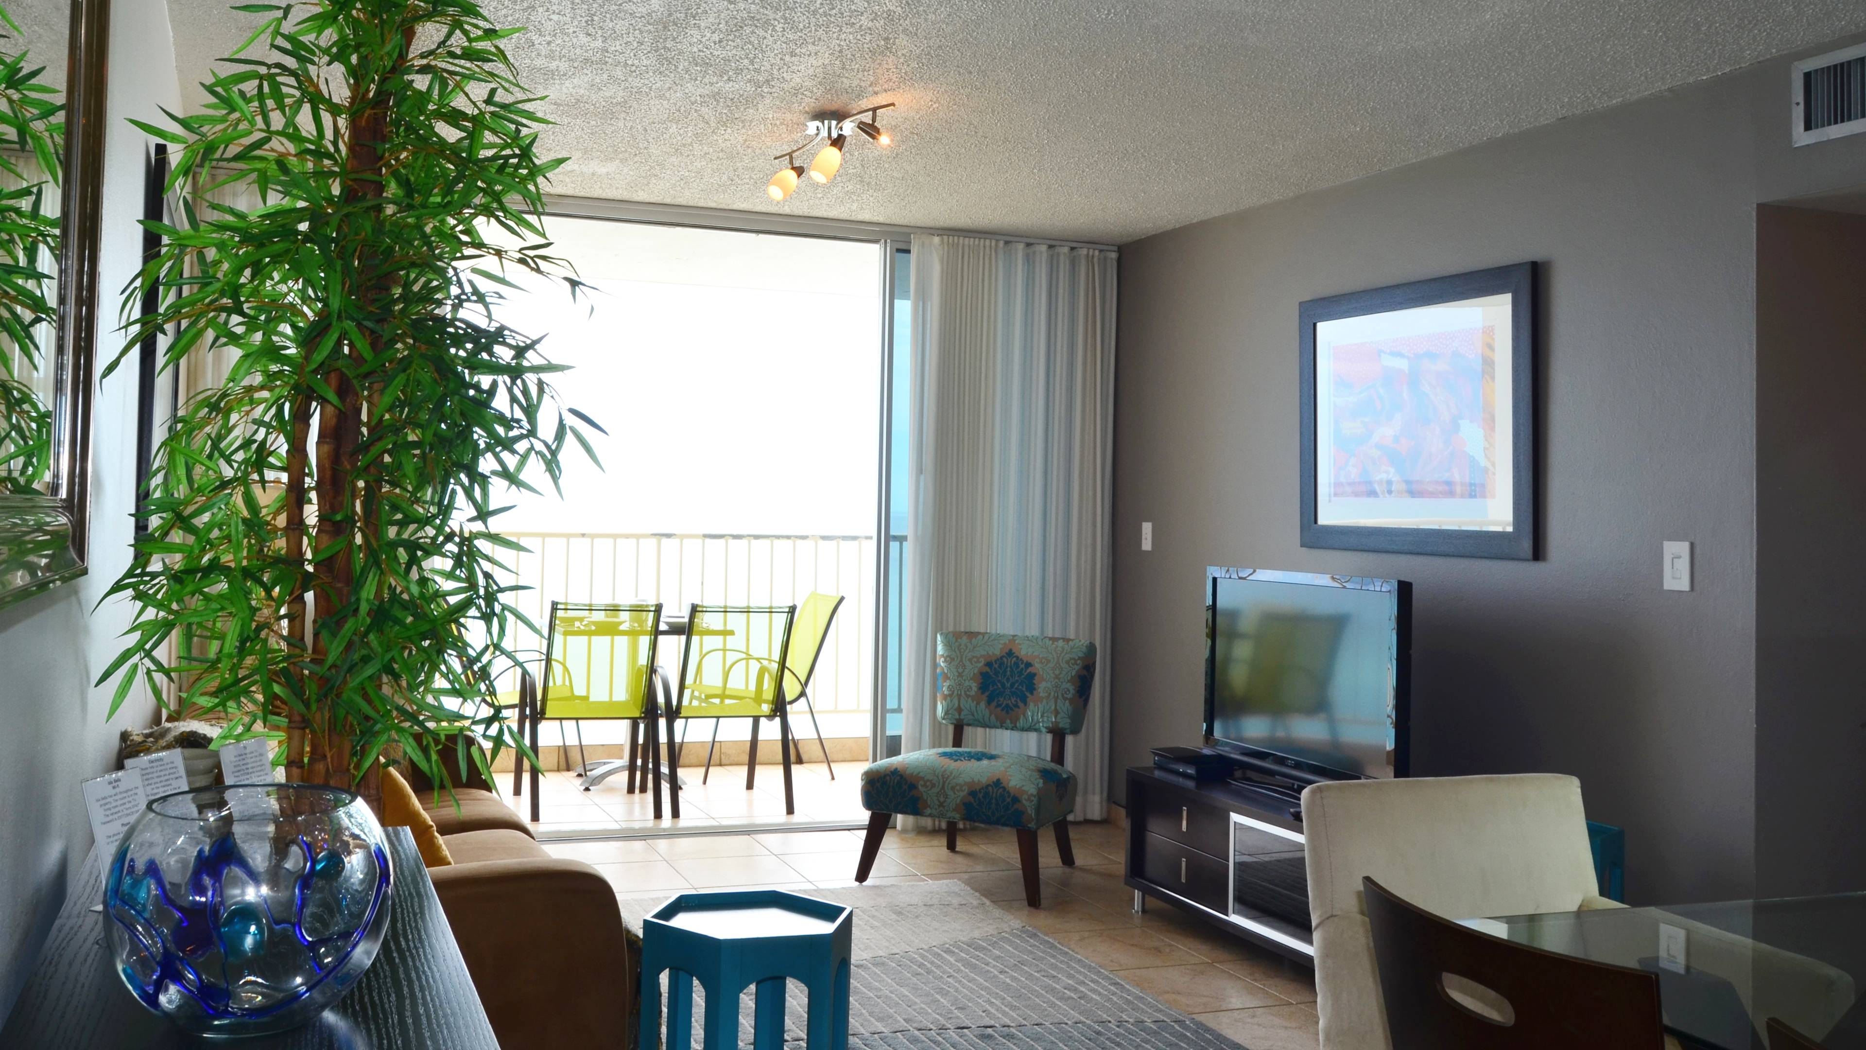
[[[801,605],[812,592],[843,602],[808,704],[791,710],[789,802],[774,725],[754,738],[758,719],[683,719],[677,824],[657,820],[620,775],[543,794],[564,816],[547,813],[545,824],[860,824],[855,773],[899,747],[899,646],[888,631],[899,631],[909,497],[905,243],[560,215],[547,234],[590,293],[571,301],[519,278],[502,316],[571,366],[558,392],[601,430],[586,432],[593,456],[573,445],[562,476],[536,471],[498,519],[526,547],[508,557],[528,620],[511,624],[511,645],[545,648],[552,602],[659,602],[670,620],[690,603]],[[677,680],[685,639],[657,641],[657,663]],[[552,669],[565,680],[554,689],[580,695],[575,669]],[[509,676],[502,688],[517,686]],[[580,766],[621,759],[638,731],[627,719],[547,721],[539,757],[580,787]]]

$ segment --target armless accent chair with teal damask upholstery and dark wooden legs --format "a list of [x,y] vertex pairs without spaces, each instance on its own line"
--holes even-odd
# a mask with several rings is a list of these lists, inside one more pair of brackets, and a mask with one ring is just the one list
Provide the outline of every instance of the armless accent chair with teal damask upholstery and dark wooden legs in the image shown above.
[[[952,747],[883,759],[862,770],[868,839],[855,869],[868,882],[888,833],[888,820],[926,816],[946,822],[946,848],[959,848],[959,820],[1017,830],[1024,901],[1041,908],[1037,831],[1056,828],[1056,852],[1075,867],[1069,813],[1075,773],[1062,766],[1064,736],[1082,732],[1088,688],[1095,682],[1095,643],[940,631],[939,719],[952,727]],[[1051,760],[965,747],[965,727],[1051,734]]]

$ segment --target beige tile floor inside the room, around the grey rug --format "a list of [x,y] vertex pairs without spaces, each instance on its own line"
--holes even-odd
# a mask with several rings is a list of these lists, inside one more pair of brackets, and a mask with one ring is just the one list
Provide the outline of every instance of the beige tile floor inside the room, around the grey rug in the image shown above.
[[[737,785],[743,792],[745,781]],[[1017,912],[1084,958],[1250,1050],[1316,1050],[1312,972],[1159,901],[1149,901],[1146,914],[1136,915],[1135,895],[1121,886],[1123,837],[1125,831],[1112,824],[1073,824],[1077,867],[1065,869],[1056,859],[1054,839],[1045,835],[1039,856],[1043,908],[1037,910],[1024,904],[1017,841],[1004,830],[963,831],[954,854],[946,852],[944,835],[888,831],[870,882],[955,878],[995,908]],[[860,831],[545,843],[556,856],[595,865],[618,897],[853,886],[860,846]]]

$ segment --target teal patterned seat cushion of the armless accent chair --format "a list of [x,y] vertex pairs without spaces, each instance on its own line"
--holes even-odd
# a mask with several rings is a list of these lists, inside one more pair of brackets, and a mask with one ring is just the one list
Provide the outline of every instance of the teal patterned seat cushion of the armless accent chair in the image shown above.
[[1032,755],[935,747],[862,770],[862,807],[993,828],[1045,828],[1075,809],[1075,773]]

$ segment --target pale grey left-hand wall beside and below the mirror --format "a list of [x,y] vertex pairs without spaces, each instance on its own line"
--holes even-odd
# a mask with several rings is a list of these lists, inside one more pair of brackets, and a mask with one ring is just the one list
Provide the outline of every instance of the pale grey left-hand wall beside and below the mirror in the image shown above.
[[[104,142],[104,215],[99,348],[112,353],[116,290],[142,252],[144,136],[125,116],[159,121],[179,106],[162,0],[116,0]],[[129,564],[134,473],[134,362],[99,383],[91,432],[91,574],[21,605],[0,609],[0,1016],[11,1009],[65,895],[69,871],[91,846],[78,781],[116,768],[125,725],[147,725],[136,697],[106,723],[110,689],[91,682],[118,652],[129,622],[121,603],[91,613]]]

